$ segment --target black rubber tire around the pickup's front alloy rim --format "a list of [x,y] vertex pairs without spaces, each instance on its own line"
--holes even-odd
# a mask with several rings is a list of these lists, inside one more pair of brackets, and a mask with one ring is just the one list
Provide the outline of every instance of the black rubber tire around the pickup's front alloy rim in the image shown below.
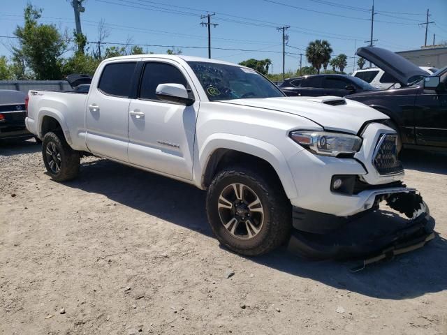
[[[262,255],[284,244],[290,237],[291,203],[286,197],[281,183],[277,179],[267,176],[268,173],[242,166],[226,168],[217,173],[208,188],[206,202],[208,221],[219,242],[231,251],[247,256]],[[261,202],[263,221],[258,226],[260,228],[254,237],[237,238],[223,225],[221,209],[218,207],[219,198],[232,184],[244,184],[247,187],[244,190],[247,189],[249,195],[251,192],[256,193],[255,195]],[[235,204],[231,206],[235,208]],[[235,209],[226,210],[235,211]],[[253,213],[253,215],[255,214]],[[252,222],[254,223],[254,221]],[[248,235],[247,223],[241,221],[237,224],[240,223],[243,225],[242,228],[246,228]],[[236,225],[236,223],[234,224]],[[251,232],[255,232],[255,230],[251,230]]]

